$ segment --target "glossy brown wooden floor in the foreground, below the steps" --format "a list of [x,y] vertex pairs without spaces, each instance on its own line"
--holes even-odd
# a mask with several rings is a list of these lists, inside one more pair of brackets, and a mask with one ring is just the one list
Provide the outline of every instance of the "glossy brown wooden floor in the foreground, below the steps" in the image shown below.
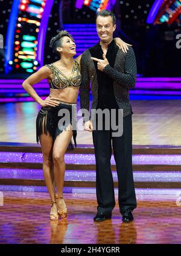
[[132,223],[122,223],[118,204],[112,220],[94,223],[95,194],[65,194],[64,197],[68,219],[51,222],[48,193],[4,192],[4,206],[0,206],[0,243],[181,243],[179,195],[137,195],[138,208],[133,212]]

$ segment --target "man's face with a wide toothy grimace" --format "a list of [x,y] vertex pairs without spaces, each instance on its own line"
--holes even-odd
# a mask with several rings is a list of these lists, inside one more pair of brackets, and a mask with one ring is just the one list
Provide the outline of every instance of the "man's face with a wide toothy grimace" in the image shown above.
[[116,25],[113,25],[112,17],[98,16],[96,21],[97,33],[100,40],[104,43],[111,42],[113,39],[113,31]]

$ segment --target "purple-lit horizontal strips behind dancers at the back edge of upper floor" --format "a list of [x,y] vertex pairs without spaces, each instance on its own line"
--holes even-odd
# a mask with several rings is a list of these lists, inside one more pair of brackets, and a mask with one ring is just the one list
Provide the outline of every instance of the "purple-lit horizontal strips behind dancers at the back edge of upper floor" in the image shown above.
[[[80,48],[79,50],[81,53],[85,49]],[[0,93],[12,94],[11,97],[3,95],[0,98],[0,102],[34,101],[31,97],[25,97],[27,93],[22,88],[23,81],[22,79],[0,79]],[[42,95],[49,94],[49,85],[46,79],[34,85],[34,88],[39,89],[38,92]],[[7,91],[8,89],[9,91]],[[19,89],[22,91],[19,91]],[[180,90],[181,77],[138,77],[136,79],[136,87],[130,90],[130,100],[180,99]],[[23,94],[21,96],[16,95],[18,93]]]

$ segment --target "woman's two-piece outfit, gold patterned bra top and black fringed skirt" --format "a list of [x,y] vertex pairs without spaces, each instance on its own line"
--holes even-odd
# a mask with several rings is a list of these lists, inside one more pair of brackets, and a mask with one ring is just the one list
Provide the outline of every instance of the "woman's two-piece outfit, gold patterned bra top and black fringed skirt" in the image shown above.
[[[46,64],[53,74],[53,79],[49,82],[49,87],[52,89],[63,89],[69,86],[78,87],[81,83],[80,67],[77,61],[74,61],[74,67],[72,68],[71,77],[65,76],[54,64]],[[62,114],[64,113],[64,114]],[[66,117],[66,114],[68,116]],[[62,122],[61,119],[63,118]],[[67,103],[59,100],[59,105],[57,107],[42,107],[37,114],[36,119],[36,140],[39,143],[40,136],[42,134],[49,134],[53,140],[66,130],[71,124],[74,145],[77,146],[76,136],[77,136],[77,104]],[[73,149],[74,145],[72,140],[69,143],[68,149]]]

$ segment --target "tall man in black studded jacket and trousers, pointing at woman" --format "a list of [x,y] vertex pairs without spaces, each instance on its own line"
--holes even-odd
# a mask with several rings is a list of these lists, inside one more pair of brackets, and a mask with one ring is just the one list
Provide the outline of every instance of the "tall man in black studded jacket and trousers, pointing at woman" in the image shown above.
[[89,116],[84,115],[84,130],[92,131],[95,148],[98,202],[95,222],[111,218],[115,207],[110,168],[112,147],[118,174],[118,201],[122,221],[132,222],[132,211],[136,208],[132,171],[132,107],[129,102],[129,88],[134,88],[136,83],[136,61],[132,47],[129,47],[127,53],[123,53],[113,41],[115,23],[115,15],[111,11],[100,11],[96,19],[100,42],[84,51],[81,57],[81,109],[89,111],[91,81],[92,110],[116,110],[116,119],[113,120],[115,123],[119,119],[118,110],[123,110],[123,133],[119,137],[113,136],[112,128],[106,130],[105,120],[103,130],[99,130],[97,126],[93,127]]

